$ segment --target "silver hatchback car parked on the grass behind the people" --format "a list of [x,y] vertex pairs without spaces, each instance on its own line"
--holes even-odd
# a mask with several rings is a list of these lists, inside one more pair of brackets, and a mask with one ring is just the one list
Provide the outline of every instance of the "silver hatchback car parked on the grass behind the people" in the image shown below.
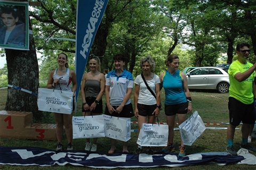
[[215,89],[219,93],[227,93],[229,88],[228,68],[198,67],[187,74],[188,88]]

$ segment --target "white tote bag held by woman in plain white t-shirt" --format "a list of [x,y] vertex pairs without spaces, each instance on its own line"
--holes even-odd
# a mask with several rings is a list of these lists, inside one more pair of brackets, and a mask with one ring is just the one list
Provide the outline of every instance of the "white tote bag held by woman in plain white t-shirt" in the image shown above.
[[145,147],[165,147],[168,142],[168,132],[168,125],[143,123],[140,128],[137,144]]

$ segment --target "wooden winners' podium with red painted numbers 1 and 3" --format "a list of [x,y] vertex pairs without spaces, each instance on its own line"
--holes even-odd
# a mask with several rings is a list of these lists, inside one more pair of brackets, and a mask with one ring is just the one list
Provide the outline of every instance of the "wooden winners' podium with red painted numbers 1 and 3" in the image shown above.
[[55,124],[33,123],[32,112],[0,111],[0,136],[57,141]]

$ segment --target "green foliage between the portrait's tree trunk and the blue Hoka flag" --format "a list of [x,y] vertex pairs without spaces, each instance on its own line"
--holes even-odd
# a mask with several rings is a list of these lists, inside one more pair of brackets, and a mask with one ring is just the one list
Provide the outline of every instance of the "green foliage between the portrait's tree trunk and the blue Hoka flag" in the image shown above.
[[76,1],[40,1],[41,6],[34,6],[29,11],[37,50],[62,50],[75,52],[75,42],[59,39],[75,39],[76,35]]

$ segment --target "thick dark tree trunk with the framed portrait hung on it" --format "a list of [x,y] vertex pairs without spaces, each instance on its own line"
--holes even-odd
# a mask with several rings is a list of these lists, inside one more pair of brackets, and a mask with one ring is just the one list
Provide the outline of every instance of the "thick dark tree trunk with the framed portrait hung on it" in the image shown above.
[[[29,20],[30,23],[30,20]],[[29,25],[31,29],[31,25]],[[38,63],[34,37],[29,34],[29,51],[6,49],[8,84],[36,92],[39,87]],[[34,119],[40,120],[42,111],[38,111],[37,96],[8,87],[5,110],[33,112]]]

